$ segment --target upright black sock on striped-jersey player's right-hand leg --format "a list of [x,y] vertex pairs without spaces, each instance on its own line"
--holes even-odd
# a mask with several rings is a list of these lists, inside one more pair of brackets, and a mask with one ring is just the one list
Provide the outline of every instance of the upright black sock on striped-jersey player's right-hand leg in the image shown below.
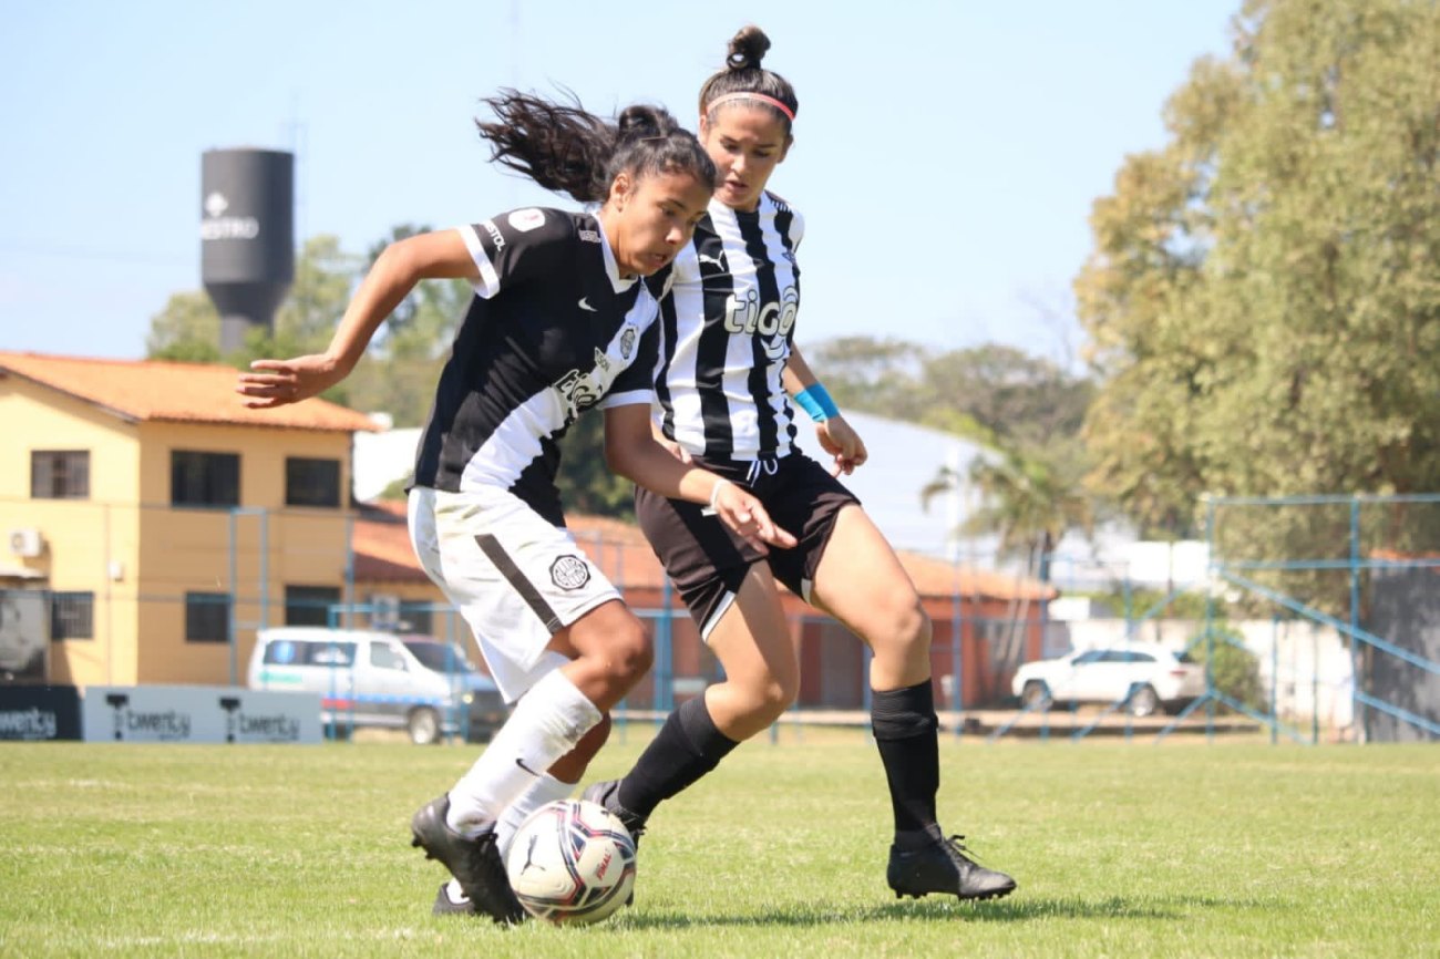
[[930,681],[870,694],[870,727],[890,783],[896,844],[933,841],[935,793],[940,789],[940,749]]

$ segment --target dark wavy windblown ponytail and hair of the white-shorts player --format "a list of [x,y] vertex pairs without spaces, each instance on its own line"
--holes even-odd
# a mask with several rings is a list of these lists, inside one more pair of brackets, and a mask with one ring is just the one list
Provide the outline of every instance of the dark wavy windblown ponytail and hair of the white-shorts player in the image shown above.
[[491,160],[582,203],[602,203],[621,173],[641,180],[655,173],[688,173],[713,184],[716,167],[696,137],[660,107],[636,104],[615,124],[572,102],[503,89],[484,101],[492,122],[475,121],[491,144]]

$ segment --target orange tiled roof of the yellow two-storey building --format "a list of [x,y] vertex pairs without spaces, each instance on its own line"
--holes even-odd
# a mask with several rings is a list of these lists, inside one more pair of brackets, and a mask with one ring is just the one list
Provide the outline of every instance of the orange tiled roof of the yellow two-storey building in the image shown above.
[[236,374],[235,367],[217,363],[0,351],[0,377],[23,377],[128,420],[380,432],[369,416],[323,399],[248,409],[235,392]]

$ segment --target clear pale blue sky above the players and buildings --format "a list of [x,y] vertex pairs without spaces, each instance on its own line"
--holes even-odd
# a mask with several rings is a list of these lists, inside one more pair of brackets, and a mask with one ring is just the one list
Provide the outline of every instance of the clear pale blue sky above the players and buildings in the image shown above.
[[766,3],[7,0],[0,348],[140,357],[199,289],[200,154],[297,151],[297,233],[570,206],[485,163],[500,86],[598,112],[700,82],[747,22],[796,86],[770,187],[806,219],[801,343],[881,334],[1066,360],[1087,216],[1240,0]]

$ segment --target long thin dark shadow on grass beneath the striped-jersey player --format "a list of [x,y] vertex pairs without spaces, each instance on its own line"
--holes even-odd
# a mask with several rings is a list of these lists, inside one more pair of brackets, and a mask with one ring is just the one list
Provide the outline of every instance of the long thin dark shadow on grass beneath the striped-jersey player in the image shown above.
[[837,922],[986,922],[1015,923],[1053,919],[1182,919],[1194,909],[1251,909],[1260,903],[1207,896],[1182,896],[1161,900],[1128,900],[1119,896],[1100,900],[1035,899],[1021,896],[988,903],[960,903],[929,899],[865,909],[783,909],[737,913],[734,916],[697,916],[683,911],[645,911],[624,916],[626,929],[685,929],[691,926],[828,926]]

